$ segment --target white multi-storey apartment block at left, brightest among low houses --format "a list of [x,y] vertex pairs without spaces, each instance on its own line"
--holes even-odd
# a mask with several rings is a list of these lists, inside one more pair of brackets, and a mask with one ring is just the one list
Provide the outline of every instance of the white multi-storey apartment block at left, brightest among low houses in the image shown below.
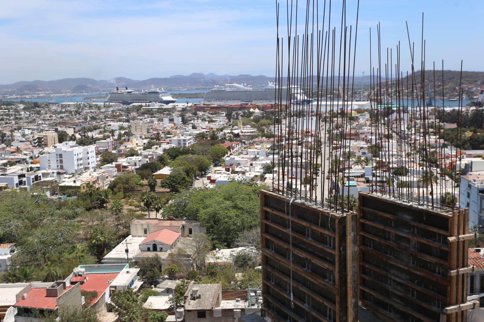
[[67,173],[90,171],[96,166],[96,146],[59,147],[39,156],[40,169],[65,170]]

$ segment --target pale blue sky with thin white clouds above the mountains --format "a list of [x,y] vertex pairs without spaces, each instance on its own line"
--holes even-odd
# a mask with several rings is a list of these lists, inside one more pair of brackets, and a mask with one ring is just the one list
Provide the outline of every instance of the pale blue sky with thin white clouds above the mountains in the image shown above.
[[[302,31],[306,1],[299,2]],[[320,8],[323,3],[319,0]],[[332,1],[338,34],[341,4]],[[357,0],[347,0],[352,28],[356,7]],[[142,80],[192,72],[273,76],[275,8],[275,0],[2,0],[0,84],[74,77]],[[355,75],[368,75],[369,29],[375,44],[378,22],[385,55],[400,40],[402,66],[409,69],[408,21],[420,59],[422,13],[427,66],[436,61],[441,68],[443,59],[446,70],[458,70],[462,59],[464,70],[484,71],[482,0],[360,0]],[[280,32],[287,36],[286,1],[280,16]],[[375,57],[376,49],[372,53]]]

